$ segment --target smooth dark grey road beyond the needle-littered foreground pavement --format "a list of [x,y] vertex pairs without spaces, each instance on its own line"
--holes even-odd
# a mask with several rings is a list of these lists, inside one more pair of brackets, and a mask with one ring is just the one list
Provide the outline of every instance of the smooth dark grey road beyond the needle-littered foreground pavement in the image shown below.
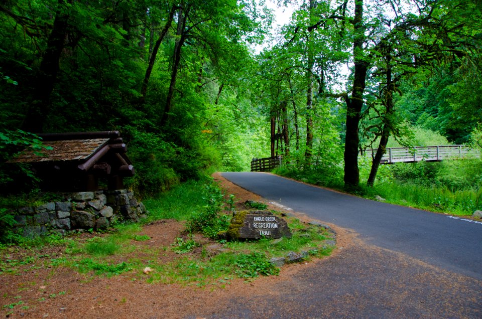
[[482,224],[332,192],[266,173],[222,173],[263,198],[355,230],[367,243],[482,280]]

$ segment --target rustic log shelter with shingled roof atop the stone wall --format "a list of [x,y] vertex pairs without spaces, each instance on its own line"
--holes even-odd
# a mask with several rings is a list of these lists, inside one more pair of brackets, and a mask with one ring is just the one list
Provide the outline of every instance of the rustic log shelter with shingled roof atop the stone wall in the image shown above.
[[41,154],[25,151],[12,163],[29,163],[49,191],[96,191],[99,180],[107,189],[124,188],[123,178],[135,174],[119,131],[39,134],[45,146]]

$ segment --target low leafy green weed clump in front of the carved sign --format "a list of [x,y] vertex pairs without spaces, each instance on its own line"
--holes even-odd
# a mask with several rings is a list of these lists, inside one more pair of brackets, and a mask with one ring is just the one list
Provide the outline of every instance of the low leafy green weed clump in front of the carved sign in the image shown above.
[[242,278],[277,275],[280,272],[279,268],[273,265],[265,254],[259,252],[239,254],[235,264],[239,268],[235,273]]

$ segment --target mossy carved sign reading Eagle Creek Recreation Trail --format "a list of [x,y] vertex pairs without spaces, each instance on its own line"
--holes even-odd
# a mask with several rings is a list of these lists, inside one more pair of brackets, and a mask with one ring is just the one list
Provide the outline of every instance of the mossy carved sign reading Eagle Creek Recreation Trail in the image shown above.
[[242,211],[236,213],[231,220],[227,234],[231,239],[291,237],[286,221],[278,216],[274,216],[270,211]]

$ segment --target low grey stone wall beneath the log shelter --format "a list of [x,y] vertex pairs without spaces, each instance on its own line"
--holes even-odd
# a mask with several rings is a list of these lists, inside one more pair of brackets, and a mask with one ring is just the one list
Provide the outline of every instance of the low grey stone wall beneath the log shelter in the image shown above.
[[146,217],[146,207],[128,190],[65,194],[64,202],[24,207],[16,212],[18,233],[26,237],[74,229],[103,230],[116,220]]

